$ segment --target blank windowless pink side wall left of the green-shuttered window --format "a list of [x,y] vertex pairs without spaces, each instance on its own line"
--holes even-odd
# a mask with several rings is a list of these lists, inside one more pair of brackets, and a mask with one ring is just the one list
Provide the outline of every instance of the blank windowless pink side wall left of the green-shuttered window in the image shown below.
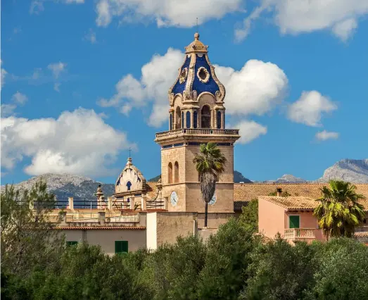
[[284,236],[286,209],[266,201],[258,200],[258,228],[260,233],[273,239],[277,232]]

